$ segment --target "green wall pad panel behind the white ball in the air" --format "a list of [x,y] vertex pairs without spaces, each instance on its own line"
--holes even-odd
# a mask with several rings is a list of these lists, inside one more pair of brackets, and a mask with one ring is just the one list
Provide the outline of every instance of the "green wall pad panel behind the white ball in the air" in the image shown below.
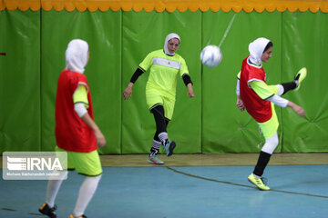
[[[249,55],[248,45],[263,36],[273,42],[272,59],[263,64],[267,83],[281,82],[281,23],[282,14],[276,11],[251,14],[208,11],[203,14],[203,46],[220,45],[223,39],[220,65],[202,68],[203,153],[260,151],[263,138],[258,125],[247,112],[241,112],[236,107],[236,78],[242,60]],[[276,111],[280,118],[280,109],[276,107]],[[258,147],[258,144],[261,145]]]

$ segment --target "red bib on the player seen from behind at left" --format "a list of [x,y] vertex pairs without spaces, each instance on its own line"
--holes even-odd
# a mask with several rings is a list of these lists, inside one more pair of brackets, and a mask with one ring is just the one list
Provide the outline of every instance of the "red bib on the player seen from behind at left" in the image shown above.
[[86,75],[65,69],[59,75],[56,92],[56,144],[66,151],[89,153],[97,150],[97,140],[93,130],[74,110],[73,94],[78,84],[87,86],[87,113],[94,119]]

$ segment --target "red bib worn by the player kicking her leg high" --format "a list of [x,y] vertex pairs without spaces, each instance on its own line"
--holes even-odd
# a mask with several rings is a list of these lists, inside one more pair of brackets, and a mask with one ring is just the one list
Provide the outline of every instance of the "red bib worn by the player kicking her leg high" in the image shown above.
[[240,90],[241,100],[246,110],[258,122],[264,123],[272,117],[272,104],[270,101],[264,101],[250,87],[251,81],[265,82],[265,72],[263,67],[257,67],[248,63],[246,57],[241,65]]

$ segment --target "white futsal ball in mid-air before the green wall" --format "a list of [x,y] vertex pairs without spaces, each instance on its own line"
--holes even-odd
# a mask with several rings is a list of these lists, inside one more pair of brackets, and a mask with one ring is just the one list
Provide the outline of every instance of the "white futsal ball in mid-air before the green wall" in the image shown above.
[[217,45],[207,45],[200,53],[200,61],[206,66],[215,67],[221,60],[222,53]]

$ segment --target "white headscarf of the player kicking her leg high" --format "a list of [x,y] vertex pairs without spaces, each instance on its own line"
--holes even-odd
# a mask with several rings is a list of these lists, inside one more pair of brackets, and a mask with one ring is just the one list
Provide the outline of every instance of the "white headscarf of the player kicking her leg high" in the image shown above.
[[264,48],[270,42],[267,38],[257,38],[249,45],[251,63],[261,65],[261,54],[264,52]]

